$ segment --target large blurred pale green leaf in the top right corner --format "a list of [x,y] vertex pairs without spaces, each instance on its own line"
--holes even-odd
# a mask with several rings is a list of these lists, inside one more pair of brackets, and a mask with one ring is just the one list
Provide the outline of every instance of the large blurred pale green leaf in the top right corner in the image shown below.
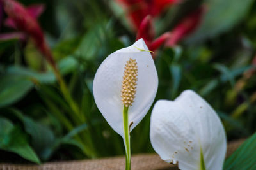
[[246,17],[252,3],[253,0],[206,0],[207,13],[197,31],[188,38],[188,43],[204,41],[232,29]]

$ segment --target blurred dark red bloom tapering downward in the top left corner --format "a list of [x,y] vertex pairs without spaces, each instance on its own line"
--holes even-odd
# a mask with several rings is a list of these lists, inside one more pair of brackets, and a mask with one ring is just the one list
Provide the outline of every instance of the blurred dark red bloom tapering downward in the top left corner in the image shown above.
[[38,4],[25,8],[22,4],[14,0],[0,1],[3,3],[4,11],[8,15],[4,24],[32,38],[40,52],[55,67],[51,50],[45,42],[44,33],[36,20],[42,11],[44,11],[44,6]]

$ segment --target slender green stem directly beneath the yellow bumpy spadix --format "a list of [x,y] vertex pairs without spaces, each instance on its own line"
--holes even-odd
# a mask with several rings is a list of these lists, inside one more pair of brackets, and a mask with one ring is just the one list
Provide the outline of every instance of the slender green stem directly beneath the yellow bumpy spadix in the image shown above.
[[130,129],[128,120],[128,108],[124,106],[124,145],[125,145],[125,170],[131,169],[131,147],[130,147]]

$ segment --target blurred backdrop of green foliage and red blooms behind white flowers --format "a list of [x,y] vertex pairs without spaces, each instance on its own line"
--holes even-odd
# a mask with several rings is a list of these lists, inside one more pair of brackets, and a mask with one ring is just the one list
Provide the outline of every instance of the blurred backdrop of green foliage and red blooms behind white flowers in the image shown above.
[[[192,89],[228,141],[256,130],[255,0],[1,0],[0,22],[0,162],[124,155],[92,82],[139,38],[154,51],[155,101]],[[131,133],[132,154],[154,152],[150,112]]]

